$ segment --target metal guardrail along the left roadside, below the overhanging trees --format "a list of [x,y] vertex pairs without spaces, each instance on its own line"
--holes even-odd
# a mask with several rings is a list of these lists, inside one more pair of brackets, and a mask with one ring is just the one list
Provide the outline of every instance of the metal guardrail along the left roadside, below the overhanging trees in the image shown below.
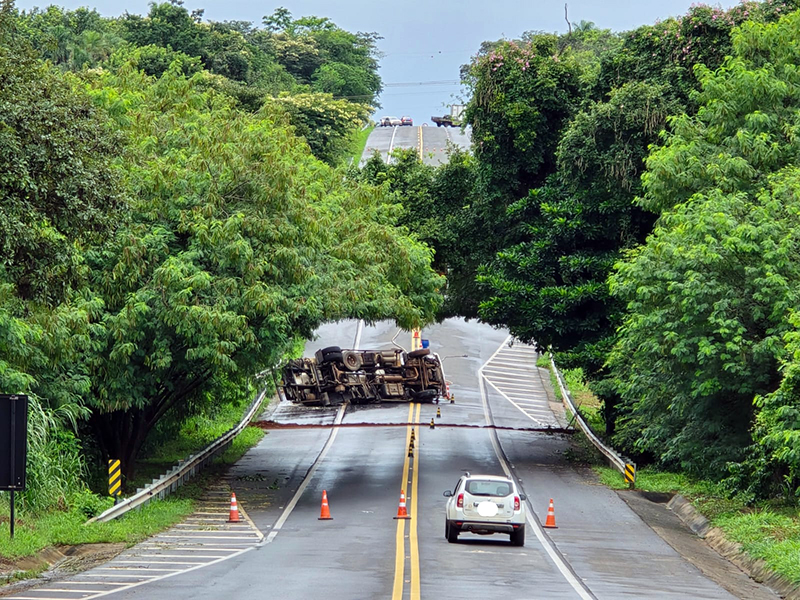
[[117,517],[121,517],[129,510],[141,508],[155,498],[163,499],[175,492],[185,482],[197,475],[197,473],[211,462],[215,456],[228,449],[234,438],[239,435],[253,418],[256,411],[261,406],[261,403],[264,401],[266,393],[267,389],[264,388],[256,395],[245,412],[244,417],[236,427],[211,442],[205,449],[180,461],[180,463],[167,471],[159,479],[154,479],[153,483],[146,488],[137,490],[133,496],[125,498],[125,500],[112,506],[104,513],[89,519],[87,523],[92,523],[94,521],[111,521]]

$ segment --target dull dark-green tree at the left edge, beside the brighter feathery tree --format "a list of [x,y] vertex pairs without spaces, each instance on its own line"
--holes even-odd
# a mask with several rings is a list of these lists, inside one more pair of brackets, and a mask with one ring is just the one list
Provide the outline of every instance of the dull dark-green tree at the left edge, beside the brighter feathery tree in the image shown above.
[[55,306],[83,277],[81,244],[121,218],[118,138],[72,77],[0,28],[0,265],[23,300]]

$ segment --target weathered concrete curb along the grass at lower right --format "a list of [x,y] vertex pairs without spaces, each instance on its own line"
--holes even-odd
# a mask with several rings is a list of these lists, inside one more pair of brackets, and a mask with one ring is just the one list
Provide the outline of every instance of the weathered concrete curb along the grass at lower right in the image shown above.
[[771,571],[763,560],[745,554],[741,544],[728,540],[725,533],[719,527],[714,527],[686,498],[676,494],[667,502],[667,508],[720,556],[735,564],[752,579],[769,586],[787,600],[800,600],[800,586]]

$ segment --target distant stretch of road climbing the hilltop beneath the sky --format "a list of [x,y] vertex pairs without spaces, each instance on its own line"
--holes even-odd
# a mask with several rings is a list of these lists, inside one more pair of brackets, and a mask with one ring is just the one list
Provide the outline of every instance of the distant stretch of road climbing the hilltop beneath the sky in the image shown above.
[[436,126],[376,127],[367,139],[361,164],[375,152],[386,161],[391,160],[389,154],[395,148],[413,148],[420,152],[425,164],[439,165],[447,162],[450,145],[469,148],[470,129],[462,131],[458,127]]

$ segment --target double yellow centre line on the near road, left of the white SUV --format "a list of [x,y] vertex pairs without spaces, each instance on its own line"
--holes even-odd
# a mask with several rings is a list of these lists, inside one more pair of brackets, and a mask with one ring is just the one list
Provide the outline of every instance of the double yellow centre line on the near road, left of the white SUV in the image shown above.
[[[416,409],[416,416],[414,415]],[[422,409],[421,404],[411,404],[408,407],[408,428],[406,430],[406,449],[411,444],[411,432],[414,431],[415,440],[419,440],[419,426],[411,423],[419,423],[419,413]],[[409,471],[411,471],[411,489],[408,487]],[[401,488],[409,492],[410,502],[408,514],[411,517],[408,521],[398,519],[397,534],[395,536],[395,559],[394,559],[394,586],[392,588],[392,600],[402,600],[403,589],[405,587],[406,570],[406,523],[408,523],[408,543],[410,560],[409,568],[411,571],[411,600],[419,600],[419,544],[417,543],[417,490],[419,489],[419,452],[414,452],[414,464],[406,452],[403,461],[403,480]]]

